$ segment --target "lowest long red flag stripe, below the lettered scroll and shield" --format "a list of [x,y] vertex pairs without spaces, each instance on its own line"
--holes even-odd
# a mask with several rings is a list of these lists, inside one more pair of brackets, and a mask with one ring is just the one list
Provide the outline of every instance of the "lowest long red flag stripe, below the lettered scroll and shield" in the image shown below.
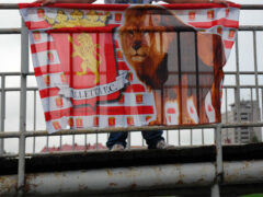
[[45,113],[46,121],[59,119],[64,116],[91,116],[91,115],[141,115],[153,114],[152,106],[98,106],[96,111],[85,108],[65,108]]

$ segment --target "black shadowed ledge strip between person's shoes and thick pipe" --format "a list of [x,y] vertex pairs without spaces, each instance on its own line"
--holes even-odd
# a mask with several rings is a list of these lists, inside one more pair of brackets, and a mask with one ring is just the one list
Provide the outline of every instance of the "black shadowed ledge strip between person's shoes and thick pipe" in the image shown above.
[[[263,143],[222,147],[224,161],[263,160]],[[124,152],[88,151],[28,154],[26,173],[62,172],[105,167],[198,163],[216,161],[215,146],[175,147],[170,150],[132,150]],[[18,173],[16,158],[0,158],[0,176]]]

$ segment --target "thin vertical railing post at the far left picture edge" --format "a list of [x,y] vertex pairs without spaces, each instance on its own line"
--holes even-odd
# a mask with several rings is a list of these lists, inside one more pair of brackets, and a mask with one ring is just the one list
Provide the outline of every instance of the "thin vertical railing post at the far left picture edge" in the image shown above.
[[[5,119],[5,76],[2,74],[1,77],[1,83],[2,83],[2,91],[1,91],[1,112],[0,112],[0,132],[4,131],[4,119]],[[0,155],[3,155],[3,143],[4,140],[0,139]]]

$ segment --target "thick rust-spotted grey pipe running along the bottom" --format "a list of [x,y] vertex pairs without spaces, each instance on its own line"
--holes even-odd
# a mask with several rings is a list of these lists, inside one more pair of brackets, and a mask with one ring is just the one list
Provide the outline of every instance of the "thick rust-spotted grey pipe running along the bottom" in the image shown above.
[[[263,161],[224,162],[224,185],[263,183]],[[196,173],[198,172],[198,173]],[[26,174],[25,195],[108,194],[209,186],[214,163],[184,163]],[[16,175],[1,176],[0,195],[16,193]]]

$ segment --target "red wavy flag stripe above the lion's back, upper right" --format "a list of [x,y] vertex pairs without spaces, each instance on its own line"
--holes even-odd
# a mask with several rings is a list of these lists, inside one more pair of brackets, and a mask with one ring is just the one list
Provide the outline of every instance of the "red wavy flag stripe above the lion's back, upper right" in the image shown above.
[[239,27],[238,21],[227,20],[225,18],[220,20],[209,21],[209,22],[190,22],[188,24],[197,28],[210,28],[216,25],[222,25],[225,27],[233,27],[233,28]]

